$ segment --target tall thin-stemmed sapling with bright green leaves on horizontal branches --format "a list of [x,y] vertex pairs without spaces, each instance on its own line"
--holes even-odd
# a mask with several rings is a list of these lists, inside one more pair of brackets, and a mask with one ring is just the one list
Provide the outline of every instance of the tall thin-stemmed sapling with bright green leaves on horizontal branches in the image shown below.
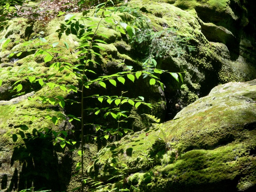
[[[108,2],[107,2],[108,3]],[[38,34],[34,34],[33,39],[32,40],[28,40],[25,42],[21,42],[21,41],[15,41],[17,45],[17,47],[24,47],[24,49],[18,49],[16,52],[12,52],[8,55],[9,58],[12,57],[19,57],[20,55],[22,55],[23,53],[29,53],[29,52],[34,52],[34,57],[38,58],[36,59],[36,61],[40,62],[40,61],[44,61],[44,64],[47,65],[46,70],[40,68],[36,68],[36,67],[40,67],[40,65],[37,64],[37,62],[33,62],[33,63],[27,63],[25,62],[24,64],[22,64],[21,61],[21,65],[22,68],[15,68],[15,70],[11,70],[10,72],[8,71],[3,71],[3,74],[7,77],[8,76],[16,76],[18,80],[16,80],[15,82],[12,82],[12,91],[15,95],[14,96],[20,96],[22,94],[24,94],[25,92],[27,92],[25,90],[26,86],[28,82],[31,83],[32,88],[36,88],[36,87],[42,87],[41,90],[56,90],[56,89],[60,89],[61,91],[57,91],[57,92],[51,92],[49,94],[42,94],[41,90],[40,91],[36,91],[36,95],[35,96],[29,96],[28,100],[31,100],[32,103],[33,102],[42,102],[42,104],[46,104],[47,105],[52,105],[53,108],[55,108],[54,111],[56,112],[51,112],[50,111],[44,111],[45,108],[43,108],[43,111],[46,112],[43,114],[40,113],[39,111],[35,114],[35,113],[22,113],[23,117],[26,117],[26,120],[29,122],[33,122],[36,121],[37,119],[47,119],[48,121],[51,120],[53,124],[55,125],[59,125],[61,121],[67,121],[71,122],[74,119],[77,121],[81,121],[81,146],[84,146],[84,127],[85,127],[85,122],[86,122],[86,126],[90,127],[95,127],[96,132],[103,129],[103,136],[101,138],[105,138],[108,139],[109,136],[115,136],[116,135],[116,139],[118,139],[119,136],[123,136],[124,133],[127,133],[128,131],[132,131],[129,129],[123,129],[121,128],[121,123],[127,122],[127,119],[129,117],[134,117],[133,115],[129,115],[127,113],[129,113],[129,111],[124,111],[123,109],[121,109],[121,105],[123,105],[124,103],[128,103],[132,106],[136,108],[138,108],[141,104],[148,106],[149,108],[153,108],[154,106],[157,106],[158,104],[151,104],[151,103],[147,103],[144,101],[144,98],[139,96],[137,98],[131,99],[128,97],[123,97],[123,92],[120,96],[116,95],[116,96],[106,96],[106,95],[99,95],[99,94],[93,94],[93,95],[85,95],[84,94],[84,89],[89,89],[90,86],[95,86],[95,85],[99,85],[102,86],[103,88],[106,88],[106,84],[110,83],[114,86],[117,85],[117,82],[120,82],[122,84],[125,83],[125,78],[131,80],[132,82],[134,82],[135,77],[136,79],[139,79],[139,77],[142,74],[147,74],[147,76],[149,77],[149,84],[150,85],[155,85],[156,83],[159,83],[159,85],[162,87],[162,89],[164,89],[163,84],[158,80],[159,78],[157,76],[152,75],[151,73],[149,73],[148,71],[145,70],[140,70],[140,71],[136,71],[133,72],[132,68],[133,66],[128,66],[125,65],[124,63],[119,64],[123,65],[123,71],[122,72],[118,72],[115,74],[111,74],[111,75],[105,75],[105,76],[98,76],[96,77],[95,80],[89,80],[87,73],[92,73],[92,74],[96,74],[93,70],[91,69],[87,69],[88,64],[98,64],[97,63],[97,59],[96,56],[100,56],[102,57],[104,54],[104,51],[111,53],[111,49],[109,49],[111,46],[105,46],[103,44],[107,44],[107,42],[105,42],[105,39],[109,39],[111,40],[111,36],[108,36],[108,34],[105,31],[101,32],[101,28],[102,27],[106,27],[105,25],[109,25],[111,24],[112,28],[113,26],[115,26],[115,28],[117,28],[121,33],[125,34],[125,31],[127,32],[127,35],[132,38],[132,36],[135,34],[135,28],[137,27],[132,27],[127,25],[126,23],[120,22],[121,26],[117,26],[114,21],[113,18],[110,16],[111,12],[109,12],[108,10],[110,10],[110,8],[106,8],[107,3],[103,3],[103,4],[99,4],[97,5],[95,8],[95,12],[93,14],[98,15],[98,18],[96,19],[92,19],[92,17],[86,16],[85,12],[85,16],[81,17],[81,19],[76,19],[76,15],[73,14],[68,14],[65,16],[65,21],[66,24],[65,26],[62,26],[60,28],[60,30],[57,30],[57,32],[59,32],[59,34],[62,36],[62,32],[63,29],[64,30],[70,30],[71,28],[67,28],[66,26],[68,26],[68,24],[70,24],[70,27],[72,27],[72,24],[76,25],[79,28],[84,28],[84,25],[80,25],[80,21],[83,22],[84,24],[86,23],[88,26],[87,30],[85,30],[83,32],[83,34],[81,34],[81,32],[79,33],[72,33],[76,36],[80,36],[80,43],[78,45],[78,47],[76,47],[76,50],[78,51],[77,54],[79,55],[79,57],[76,60],[82,60],[84,62],[84,64],[76,64],[73,63],[73,65],[69,62],[65,62],[65,60],[68,60],[67,57],[62,55],[62,52],[60,52],[60,48],[63,48],[63,46],[66,47],[67,50],[70,50],[70,47],[68,45],[68,43],[66,41],[63,41],[62,44],[63,45],[59,45],[60,42],[49,42],[46,38],[44,38],[44,31],[40,31]],[[89,22],[88,22],[89,21]],[[138,28],[137,28],[138,29]],[[124,31],[125,30],[125,31]],[[35,31],[35,30],[34,30]],[[76,29],[76,31],[79,31],[79,29]],[[109,29],[109,31],[111,31],[111,29]],[[112,33],[113,34],[113,33]],[[29,38],[30,36],[28,36]],[[2,48],[5,47],[5,44],[8,44],[11,39],[4,39],[4,41],[6,43],[3,44]],[[107,41],[107,40],[106,40]],[[111,43],[111,42],[110,42]],[[29,49],[28,49],[29,47]],[[100,52],[96,52],[94,51],[94,48],[97,48],[99,50],[103,51],[103,54],[100,54]],[[10,48],[8,48],[10,49]],[[7,50],[8,50],[7,49]],[[14,49],[14,48],[12,48]],[[17,49],[17,48],[16,48]],[[113,50],[113,48],[112,48]],[[101,52],[102,53],[102,52]],[[112,53],[113,55],[113,53]],[[64,61],[62,61],[64,60]],[[155,61],[156,62],[156,61]],[[49,67],[49,70],[48,70]],[[153,69],[155,73],[157,74],[162,74],[165,71],[164,70],[160,70],[160,69]],[[43,71],[45,71],[44,73],[42,73]],[[38,73],[39,72],[39,73]],[[177,73],[170,73],[177,81],[179,81],[178,79],[178,74]],[[183,81],[183,78],[180,74],[180,78],[181,81]],[[81,85],[81,88],[77,88],[75,86],[75,81],[74,80],[78,80],[78,83]],[[12,79],[13,81],[13,79]],[[26,86],[24,84],[22,84],[22,82],[26,82]],[[69,84],[69,82],[71,84]],[[1,82],[2,83],[2,82]],[[5,83],[5,82],[4,82]],[[30,87],[31,87],[30,86]],[[60,92],[63,92],[61,95],[59,94]],[[77,102],[76,100],[70,100],[67,98],[67,94],[70,92],[80,92],[81,93],[81,102]],[[39,93],[39,94],[38,94]],[[97,98],[98,101],[100,101],[100,103],[102,103],[103,101],[107,101],[108,105],[110,105],[110,107],[103,107],[103,108],[84,108],[84,102],[86,101],[87,98]],[[115,105],[111,105],[111,103],[115,103]],[[66,103],[70,103],[71,105],[74,103],[79,103],[80,107],[81,107],[81,116],[74,116],[74,115],[66,115],[63,111],[63,109],[66,106]],[[161,104],[161,103],[159,103]],[[57,105],[60,107],[60,111],[56,110]],[[22,108],[26,108],[26,106],[24,107],[24,105],[22,105]],[[49,108],[49,107],[48,107]],[[14,110],[14,109],[12,109]],[[112,116],[114,119],[116,119],[118,126],[117,128],[106,128],[104,125],[100,125],[100,124],[93,124],[93,123],[89,123],[86,120],[85,117],[85,113],[84,110],[88,110],[88,111],[92,111],[95,115],[98,115],[100,112],[104,113],[104,117],[106,118],[108,115]],[[127,114],[127,115],[126,115]],[[26,124],[28,124],[28,122],[25,121],[23,122],[24,124],[22,124],[22,126],[18,126],[18,127],[25,127],[24,131],[30,130],[28,128],[28,126]],[[48,122],[47,122],[48,124]],[[120,125],[119,125],[120,124]],[[17,127],[17,126],[16,126]],[[41,126],[40,126],[41,127]],[[87,128],[88,129],[88,128]],[[104,130],[105,129],[105,130]],[[61,148],[65,148],[66,144],[69,144],[71,146],[76,145],[77,140],[73,140],[73,139],[69,139],[68,138],[68,134],[72,134],[72,133],[76,133],[76,130],[53,130],[52,128],[47,128],[47,126],[45,127],[41,127],[38,130],[33,129],[33,134],[28,134],[28,138],[26,138],[24,132],[22,132],[21,138],[26,140],[35,140],[37,138],[39,139],[43,139],[45,137],[50,137],[53,140],[53,145],[55,145],[56,143],[60,144]],[[9,134],[9,133],[7,133]],[[95,133],[94,133],[95,134]],[[97,139],[97,136],[94,135],[87,135],[87,136],[92,136],[95,140]],[[18,140],[18,136],[17,134],[13,134],[12,135],[12,140],[17,141]],[[26,143],[26,142],[25,142]],[[71,147],[72,148],[72,147]],[[78,150],[76,148],[72,149],[72,150]],[[81,156],[81,162],[78,162],[76,165],[76,172],[79,171],[81,169],[81,172],[76,173],[77,175],[81,174],[81,190],[84,190],[84,184],[86,183],[86,180],[84,179],[84,147],[81,147],[81,150],[78,150],[77,152],[78,156]],[[115,164],[112,164],[113,167],[115,167],[118,171],[121,170],[120,172],[120,176],[122,176],[122,172],[123,169],[119,167],[119,164],[122,164],[122,162],[120,163],[118,161],[118,155],[117,155],[117,162]],[[118,178],[120,177],[118,174]],[[121,183],[120,183],[121,185]],[[119,186],[119,184],[118,184]],[[27,186],[28,187],[28,186]],[[80,187],[78,187],[80,188]],[[75,189],[78,189],[75,188]],[[118,187],[120,188],[120,186]]]

